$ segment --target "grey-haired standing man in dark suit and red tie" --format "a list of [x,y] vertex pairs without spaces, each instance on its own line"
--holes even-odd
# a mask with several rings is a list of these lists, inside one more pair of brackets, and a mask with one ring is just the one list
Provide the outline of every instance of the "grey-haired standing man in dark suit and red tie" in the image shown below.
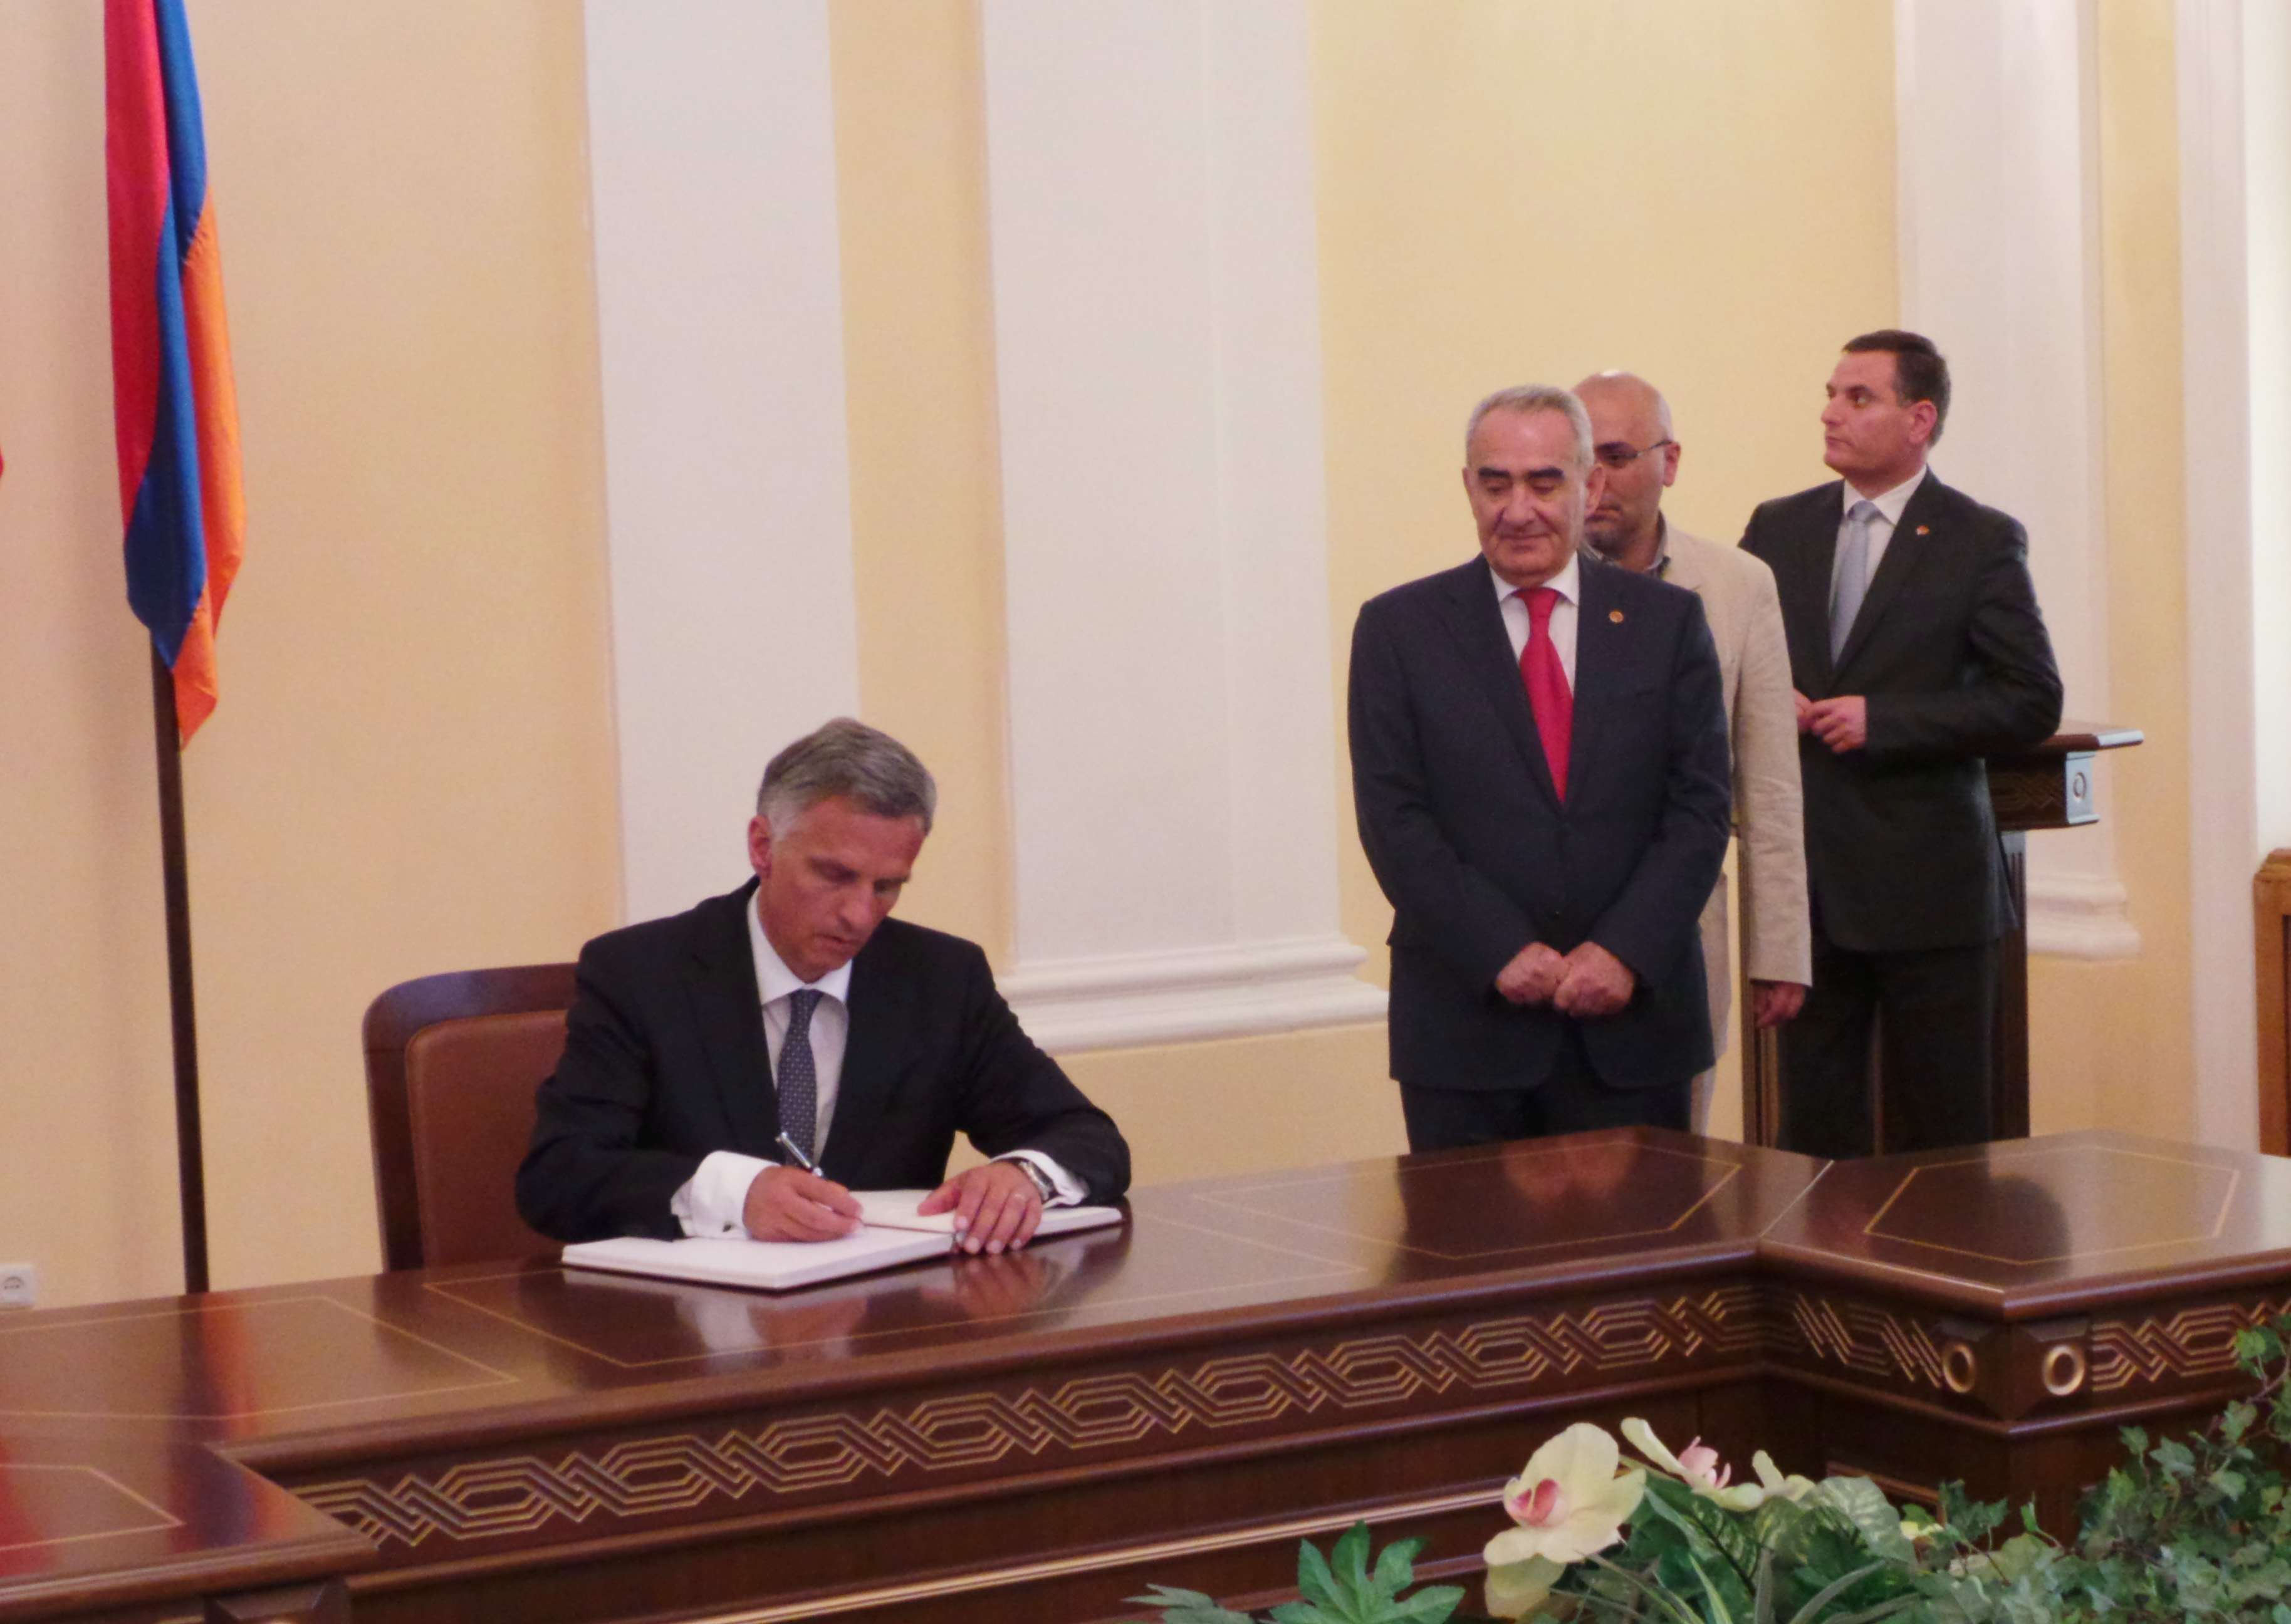
[[1565,389],[1489,396],[1464,451],[1482,557],[1372,598],[1352,634],[1409,1148],[1684,1129],[1730,822],[1702,605],[1581,554],[1601,474]]

